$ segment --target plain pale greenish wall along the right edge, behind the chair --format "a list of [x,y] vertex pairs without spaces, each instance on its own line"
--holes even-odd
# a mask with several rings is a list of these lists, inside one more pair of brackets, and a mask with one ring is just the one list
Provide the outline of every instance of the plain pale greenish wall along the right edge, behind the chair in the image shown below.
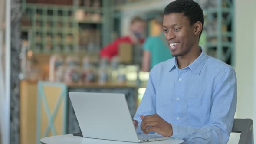
[[[236,118],[251,118],[256,128],[256,16],[255,0],[235,0]],[[254,131],[254,140],[256,140]],[[238,141],[232,134],[229,144]]]

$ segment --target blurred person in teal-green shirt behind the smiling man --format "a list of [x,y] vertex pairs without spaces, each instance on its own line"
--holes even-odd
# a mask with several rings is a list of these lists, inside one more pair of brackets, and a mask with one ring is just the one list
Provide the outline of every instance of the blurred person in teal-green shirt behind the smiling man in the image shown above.
[[171,51],[164,38],[163,16],[160,14],[155,18],[160,29],[160,35],[150,36],[143,44],[142,71],[149,72],[154,65],[171,59]]

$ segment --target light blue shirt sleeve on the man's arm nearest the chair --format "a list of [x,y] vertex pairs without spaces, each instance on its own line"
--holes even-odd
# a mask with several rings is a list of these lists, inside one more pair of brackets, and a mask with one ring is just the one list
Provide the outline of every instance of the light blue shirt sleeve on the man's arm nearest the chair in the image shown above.
[[236,111],[237,86],[234,69],[224,72],[212,95],[209,123],[201,128],[172,124],[173,138],[184,144],[226,144]]

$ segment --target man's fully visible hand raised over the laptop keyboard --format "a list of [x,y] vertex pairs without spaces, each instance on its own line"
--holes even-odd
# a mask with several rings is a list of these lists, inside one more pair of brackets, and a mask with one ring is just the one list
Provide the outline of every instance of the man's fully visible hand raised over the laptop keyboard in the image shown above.
[[154,115],[141,115],[141,130],[148,134],[150,131],[157,132],[164,137],[171,137],[173,135],[171,124],[164,121],[158,114]]

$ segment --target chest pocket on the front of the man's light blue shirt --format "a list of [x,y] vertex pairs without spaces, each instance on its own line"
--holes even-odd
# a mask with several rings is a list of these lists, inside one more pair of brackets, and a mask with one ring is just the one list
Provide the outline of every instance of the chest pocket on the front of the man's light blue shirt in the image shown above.
[[188,121],[191,126],[202,127],[210,118],[210,100],[203,97],[188,98]]

